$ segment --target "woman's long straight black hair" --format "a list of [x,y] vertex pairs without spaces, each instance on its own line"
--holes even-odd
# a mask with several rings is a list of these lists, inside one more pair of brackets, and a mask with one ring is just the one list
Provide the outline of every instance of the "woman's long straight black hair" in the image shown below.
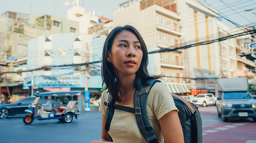
[[[132,27],[130,25],[125,25],[124,27],[116,27],[106,37],[106,41],[104,43],[104,47],[103,47],[103,51],[102,51],[102,68],[101,68],[101,76],[102,76],[103,84],[104,83],[106,84],[106,87],[104,88],[104,90],[108,89],[108,92],[110,92],[110,94],[113,97],[113,102],[121,101],[120,97],[118,96],[120,89],[117,84],[116,75],[114,72],[113,65],[112,65],[112,63],[107,61],[107,57],[109,57],[109,54],[111,53],[113,40],[115,39],[116,35],[124,30],[130,31],[137,37],[137,39],[139,40],[139,42],[141,44],[141,49],[143,52],[142,61],[141,61],[139,69],[136,72],[136,77],[134,80],[133,87],[136,90],[139,90],[141,88],[141,86],[148,86],[147,80],[161,78],[160,75],[150,76],[148,73],[148,69],[147,69],[147,66],[149,63],[148,50],[147,50],[146,44],[145,44],[142,36],[139,34],[137,29],[135,29],[134,27]],[[103,84],[102,84],[102,86],[103,86]]]

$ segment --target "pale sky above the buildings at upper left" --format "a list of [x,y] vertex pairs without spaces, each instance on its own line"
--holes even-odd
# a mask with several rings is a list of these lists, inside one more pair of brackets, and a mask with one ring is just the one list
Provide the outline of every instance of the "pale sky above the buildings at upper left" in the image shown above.
[[[67,11],[72,6],[65,6],[64,2],[72,3],[73,0],[0,0],[0,14],[6,11],[20,12],[43,16],[44,14],[56,15],[67,18]],[[125,0],[79,0],[79,6],[85,8],[85,13],[96,11],[97,16],[112,19],[112,11],[119,7]]]

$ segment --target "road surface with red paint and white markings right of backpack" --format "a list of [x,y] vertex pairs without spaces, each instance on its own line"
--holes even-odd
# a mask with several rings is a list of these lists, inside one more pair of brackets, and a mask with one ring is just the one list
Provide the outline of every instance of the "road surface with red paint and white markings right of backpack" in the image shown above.
[[203,143],[256,143],[256,122],[229,119],[223,122],[215,106],[199,107],[203,121]]

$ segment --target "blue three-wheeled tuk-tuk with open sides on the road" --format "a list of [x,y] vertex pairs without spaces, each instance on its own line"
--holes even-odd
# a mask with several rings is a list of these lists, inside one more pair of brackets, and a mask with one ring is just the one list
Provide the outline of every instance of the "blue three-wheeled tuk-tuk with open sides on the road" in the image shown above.
[[[78,96],[80,91],[70,92],[42,92],[34,93],[35,100],[29,105],[28,115],[25,115],[23,122],[25,124],[31,124],[34,119],[46,120],[46,119],[58,119],[64,123],[71,123],[73,117],[77,119],[77,115],[81,114],[78,109]],[[39,115],[40,104],[37,104],[39,98],[48,96],[52,100],[52,110],[43,111],[42,115]]]

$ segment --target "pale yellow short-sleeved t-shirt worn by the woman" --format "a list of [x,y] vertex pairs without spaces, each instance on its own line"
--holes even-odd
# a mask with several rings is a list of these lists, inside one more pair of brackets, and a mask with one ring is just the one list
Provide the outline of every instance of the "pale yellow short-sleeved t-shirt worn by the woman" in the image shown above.
[[[104,102],[107,101],[108,92],[104,91],[101,95],[100,113],[106,116],[106,106]],[[126,105],[133,108],[132,105]],[[161,128],[158,120],[163,115],[172,110],[177,110],[169,90],[162,82],[157,82],[150,90],[147,98],[147,115],[156,138],[159,143],[164,143]],[[147,143],[139,130],[135,114],[115,109],[112,118],[109,135],[112,137],[114,143]]]

